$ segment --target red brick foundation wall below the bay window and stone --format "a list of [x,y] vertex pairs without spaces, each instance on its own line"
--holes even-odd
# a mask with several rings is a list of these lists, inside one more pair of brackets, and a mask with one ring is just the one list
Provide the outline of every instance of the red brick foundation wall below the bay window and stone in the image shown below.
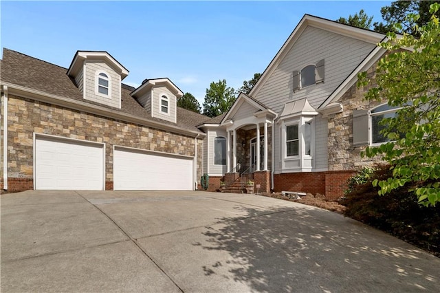
[[347,180],[353,174],[355,171],[352,170],[275,174],[274,191],[320,193],[328,200],[336,200],[344,195]]

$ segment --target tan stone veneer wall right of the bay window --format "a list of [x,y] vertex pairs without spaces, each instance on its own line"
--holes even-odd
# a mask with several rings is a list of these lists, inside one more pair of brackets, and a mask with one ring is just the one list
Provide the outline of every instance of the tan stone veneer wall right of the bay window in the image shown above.
[[[374,78],[375,67],[376,65],[373,65],[367,70],[369,78]],[[353,85],[339,100],[344,111],[329,115],[327,140],[329,171],[360,170],[363,166],[372,166],[380,162],[380,160],[360,157],[360,152],[364,151],[366,145],[353,146],[353,110],[371,109],[383,103],[364,100],[364,95],[370,88],[371,86],[358,89],[356,84]]]

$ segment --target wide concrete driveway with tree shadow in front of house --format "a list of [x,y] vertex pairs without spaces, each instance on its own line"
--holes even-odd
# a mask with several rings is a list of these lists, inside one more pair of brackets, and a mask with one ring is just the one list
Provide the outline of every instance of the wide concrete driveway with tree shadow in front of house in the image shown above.
[[341,215],[205,192],[1,195],[1,292],[440,292],[440,259]]

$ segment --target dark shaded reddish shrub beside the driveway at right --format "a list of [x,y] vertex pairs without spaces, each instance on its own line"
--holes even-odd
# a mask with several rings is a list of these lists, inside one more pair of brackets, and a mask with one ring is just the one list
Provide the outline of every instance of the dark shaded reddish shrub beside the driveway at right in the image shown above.
[[440,257],[440,206],[421,206],[410,191],[401,186],[386,195],[378,195],[373,180],[392,176],[389,166],[378,167],[369,180],[347,193],[344,215],[379,228]]

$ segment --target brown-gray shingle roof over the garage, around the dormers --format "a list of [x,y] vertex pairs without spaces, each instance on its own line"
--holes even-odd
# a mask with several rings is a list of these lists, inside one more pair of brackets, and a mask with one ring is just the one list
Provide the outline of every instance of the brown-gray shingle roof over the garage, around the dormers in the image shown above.
[[177,123],[168,122],[159,118],[151,117],[151,114],[142,107],[135,98],[130,96],[133,87],[122,84],[121,109],[84,100],[83,94],[76,86],[75,80],[67,76],[67,68],[41,61],[37,58],[21,54],[19,52],[3,48],[3,59],[0,63],[0,78],[4,83],[11,83],[29,89],[43,91],[47,94],[63,96],[72,100],[87,102],[91,105],[99,105],[113,111],[120,111],[146,120],[160,122],[164,125],[174,125],[190,131],[197,131],[197,125],[209,119],[198,113],[177,107]]

